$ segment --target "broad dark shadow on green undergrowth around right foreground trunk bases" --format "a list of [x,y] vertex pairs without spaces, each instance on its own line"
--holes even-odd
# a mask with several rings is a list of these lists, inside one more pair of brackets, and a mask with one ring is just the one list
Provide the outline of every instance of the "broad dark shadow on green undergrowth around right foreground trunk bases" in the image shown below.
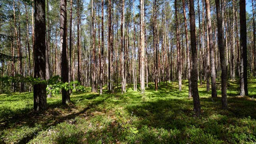
[[[221,109],[221,98],[200,98],[202,117],[208,118],[214,114],[226,115],[227,117],[251,117],[256,118],[255,101],[246,98],[228,98],[228,110]],[[141,104],[126,107],[129,113],[139,117],[140,126],[164,128],[164,129],[182,129],[190,125],[197,125],[190,119],[194,119],[192,100],[166,99],[153,102],[142,102]]]

